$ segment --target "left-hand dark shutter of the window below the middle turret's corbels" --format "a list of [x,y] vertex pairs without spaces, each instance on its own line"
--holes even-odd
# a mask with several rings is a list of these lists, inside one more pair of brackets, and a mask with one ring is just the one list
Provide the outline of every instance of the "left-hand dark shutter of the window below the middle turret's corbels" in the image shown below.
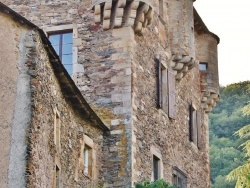
[[162,108],[162,72],[161,62],[156,60],[157,67],[157,108]]

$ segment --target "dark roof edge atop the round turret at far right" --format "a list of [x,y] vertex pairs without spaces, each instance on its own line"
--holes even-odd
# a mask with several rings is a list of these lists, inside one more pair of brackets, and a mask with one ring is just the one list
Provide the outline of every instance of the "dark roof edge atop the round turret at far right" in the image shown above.
[[205,25],[205,23],[203,22],[203,20],[201,19],[200,15],[198,14],[195,8],[194,8],[194,29],[199,35],[201,34],[212,35],[217,40],[217,43],[218,44],[220,43],[220,38],[216,34],[209,31],[209,29],[207,28],[207,26]]

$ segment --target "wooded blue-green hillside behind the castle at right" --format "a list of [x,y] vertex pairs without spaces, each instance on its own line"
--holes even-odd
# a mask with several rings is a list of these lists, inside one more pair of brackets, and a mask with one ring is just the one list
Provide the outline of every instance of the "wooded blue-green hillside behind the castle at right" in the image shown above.
[[250,116],[243,116],[242,108],[250,102],[250,82],[240,82],[220,88],[220,102],[210,113],[211,187],[234,188],[235,182],[226,175],[246,160],[244,142],[234,133],[250,124]]

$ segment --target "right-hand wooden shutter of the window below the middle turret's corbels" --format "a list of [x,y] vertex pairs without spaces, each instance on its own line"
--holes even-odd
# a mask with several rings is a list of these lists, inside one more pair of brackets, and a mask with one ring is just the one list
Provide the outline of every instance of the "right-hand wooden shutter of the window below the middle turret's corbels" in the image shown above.
[[168,69],[168,117],[175,118],[175,75]]

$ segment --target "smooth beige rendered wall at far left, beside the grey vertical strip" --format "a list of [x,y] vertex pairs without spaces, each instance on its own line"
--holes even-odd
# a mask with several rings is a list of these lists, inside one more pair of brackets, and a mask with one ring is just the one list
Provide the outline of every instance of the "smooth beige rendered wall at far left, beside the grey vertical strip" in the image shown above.
[[7,187],[21,31],[18,24],[4,14],[0,14],[0,30],[0,187]]

